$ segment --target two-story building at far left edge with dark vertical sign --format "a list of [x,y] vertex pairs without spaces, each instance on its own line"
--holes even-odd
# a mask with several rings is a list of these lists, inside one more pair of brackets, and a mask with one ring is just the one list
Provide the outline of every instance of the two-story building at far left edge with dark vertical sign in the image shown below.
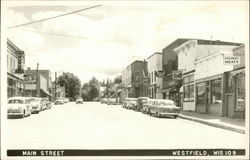
[[7,39],[7,97],[24,95],[25,54]]

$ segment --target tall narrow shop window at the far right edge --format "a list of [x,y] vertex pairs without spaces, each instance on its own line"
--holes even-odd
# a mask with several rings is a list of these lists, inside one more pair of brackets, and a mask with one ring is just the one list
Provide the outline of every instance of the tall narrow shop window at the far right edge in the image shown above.
[[236,76],[236,108],[245,108],[245,76]]

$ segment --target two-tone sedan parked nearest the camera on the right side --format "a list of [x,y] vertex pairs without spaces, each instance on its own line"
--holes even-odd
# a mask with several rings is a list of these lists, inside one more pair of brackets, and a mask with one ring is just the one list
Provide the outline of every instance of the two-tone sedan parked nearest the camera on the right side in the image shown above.
[[155,114],[157,117],[174,117],[176,118],[180,113],[180,108],[176,106],[172,100],[156,100],[152,105],[149,105],[148,113],[150,115]]

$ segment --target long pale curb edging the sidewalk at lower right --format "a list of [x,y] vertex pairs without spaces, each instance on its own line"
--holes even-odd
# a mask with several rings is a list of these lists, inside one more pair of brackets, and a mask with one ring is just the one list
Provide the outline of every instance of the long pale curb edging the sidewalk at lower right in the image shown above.
[[180,114],[178,115],[178,117],[182,118],[182,119],[187,119],[187,120],[191,120],[191,121],[194,121],[194,122],[206,124],[206,125],[209,125],[209,126],[213,126],[213,127],[222,128],[222,129],[226,129],[226,130],[230,130],[230,131],[234,131],[234,132],[245,134],[245,130],[244,129],[239,129],[239,128],[234,128],[234,127],[225,126],[225,125],[221,125],[221,124],[216,124],[216,123],[204,121],[204,120],[199,119],[199,118],[194,118],[194,117],[180,115]]

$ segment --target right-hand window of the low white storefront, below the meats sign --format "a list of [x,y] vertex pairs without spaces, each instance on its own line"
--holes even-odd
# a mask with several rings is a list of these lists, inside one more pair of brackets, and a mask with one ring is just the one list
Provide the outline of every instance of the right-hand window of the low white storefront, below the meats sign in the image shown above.
[[211,81],[211,103],[212,104],[221,104],[222,103],[222,94],[221,94],[221,79],[216,79]]

